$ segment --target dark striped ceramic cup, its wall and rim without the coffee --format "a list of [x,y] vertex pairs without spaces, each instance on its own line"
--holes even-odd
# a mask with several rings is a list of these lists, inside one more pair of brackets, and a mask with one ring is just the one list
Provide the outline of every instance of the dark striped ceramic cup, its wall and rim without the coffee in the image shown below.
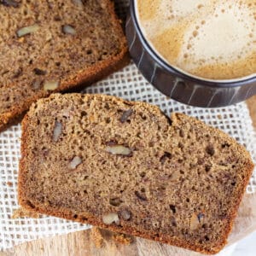
[[136,0],[131,0],[125,25],[130,54],[145,79],[160,92],[177,102],[202,108],[229,106],[256,94],[255,76],[226,82],[210,81],[197,79],[170,66],[143,37],[136,13]]

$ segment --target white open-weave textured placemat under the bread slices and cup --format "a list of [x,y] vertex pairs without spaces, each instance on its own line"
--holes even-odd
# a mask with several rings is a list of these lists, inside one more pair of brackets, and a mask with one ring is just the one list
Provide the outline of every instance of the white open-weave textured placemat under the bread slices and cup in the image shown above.
[[[121,16],[125,15],[127,1],[116,1]],[[167,114],[172,111],[195,116],[209,125],[226,131],[231,137],[245,145],[256,162],[256,137],[253,131],[246,103],[229,108],[203,109],[192,108],[167,99],[153,86],[147,83],[138,72],[137,67],[130,65],[114,73],[108,79],[90,86],[87,93],[103,93],[120,96],[128,100],[144,101],[158,105]],[[89,225],[78,224],[60,218],[43,217],[38,219],[18,218],[11,216],[17,204],[17,175],[20,158],[20,125],[12,126],[0,133],[0,250],[14,247],[16,244],[32,241],[52,235],[67,234],[73,231],[88,229]],[[256,191],[255,172],[247,193]]]

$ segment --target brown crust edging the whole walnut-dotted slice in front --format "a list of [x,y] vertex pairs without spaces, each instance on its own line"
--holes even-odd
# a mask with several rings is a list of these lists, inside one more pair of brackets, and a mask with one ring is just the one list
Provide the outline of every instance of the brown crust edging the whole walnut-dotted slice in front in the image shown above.
[[[54,97],[59,98],[60,96],[58,95],[53,95],[50,96],[50,99],[54,99]],[[68,97],[67,95],[65,97]],[[74,96],[76,97],[76,96]],[[154,106],[150,106],[147,103],[143,102],[126,102],[122,99],[115,98],[113,96],[101,96],[101,95],[96,95],[96,96],[85,96],[88,101],[91,99],[96,100],[96,101],[105,101],[105,100],[110,100],[113,102],[119,102],[120,104],[122,103],[128,103],[130,106],[139,106],[139,108],[149,108],[151,109],[152,113],[155,113],[155,115],[162,115],[164,117],[164,114],[160,113],[160,110]],[[77,100],[79,101],[80,96],[77,96]],[[42,104],[42,105],[40,105]],[[44,100],[39,101],[39,105],[43,108],[47,106],[47,103],[44,105]],[[108,229],[112,230],[114,232],[120,232],[124,234],[128,234],[131,236],[140,236],[146,239],[151,239],[154,241],[160,241],[160,242],[165,242],[173,246],[177,247],[184,247],[188,248],[191,250],[194,250],[196,252],[200,253],[206,253],[206,254],[214,254],[218,253],[224,245],[227,243],[227,237],[230,234],[230,230],[232,228],[232,224],[234,222],[234,219],[236,218],[236,213],[237,209],[240,205],[242,195],[245,192],[245,189],[247,187],[247,183],[249,178],[252,175],[253,172],[253,162],[251,160],[250,155],[247,153],[246,149],[243,148],[241,145],[236,143],[236,140],[233,138],[230,138],[227,136],[223,131],[219,131],[218,129],[214,129],[210,126],[205,125],[202,123],[200,120],[197,120],[195,118],[191,118],[186,116],[183,113],[172,113],[172,124],[171,126],[174,127],[180,127],[180,126],[185,126],[187,124],[193,125],[193,127],[198,127],[200,130],[205,129],[204,131],[201,130],[201,132],[206,132],[209,131],[210,134],[212,134],[212,137],[216,138],[222,138],[225,143],[230,143],[232,147],[236,148],[237,150],[237,156],[242,159],[243,166],[241,166],[241,172],[243,174],[243,178],[240,180],[239,183],[236,184],[236,190],[234,190],[233,194],[230,195],[233,197],[233,202],[230,205],[229,211],[228,212],[228,217],[224,218],[224,227],[222,230],[222,233],[220,236],[218,236],[218,242],[216,243],[210,243],[207,246],[206,245],[201,245],[198,242],[192,242],[186,239],[181,239],[180,237],[177,236],[168,236],[168,234],[164,233],[158,233],[155,234],[154,232],[150,232],[148,230],[143,230],[140,227],[134,228],[129,225],[125,225],[125,227],[120,227],[119,225],[116,224],[104,224],[102,222],[101,218],[98,218],[94,214],[92,214],[90,211],[85,212],[86,209],[84,209],[81,214],[79,212],[72,212],[71,210],[68,210],[67,208],[64,207],[56,207],[56,206],[45,206],[43,203],[42,204],[37,204],[34,205],[33,202],[31,202],[30,198],[27,198],[26,195],[26,174],[30,170],[28,170],[28,164],[29,164],[29,151],[28,145],[30,144],[32,137],[29,131],[32,131],[33,129],[37,129],[36,127],[32,128],[31,127],[31,119],[33,116],[33,111],[34,107],[31,108],[30,112],[26,114],[25,119],[22,121],[22,139],[21,139],[21,160],[20,160],[20,172],[19,172],[19,183],[18,183],[18,195],[19,195],[19,203],[22,207],[26,208],[29,211],[32,212],[40,212],[44,214],[49,214],[53,215],[55,217],[59,218],[67,218],[71,219],[73,221],[79,221],[84,224],[93,224],[96,225],[102,229]],[[166,118],[166,117],[165,117]],[[211,152],[210,152],[211,153]],[[209,191],[209,193],[211,193]],[[212,192],[214,193],[214,192]],[[154,208],[152,208],[152,211],[154,211]],[[212,230],[214,232],[214,230]]]

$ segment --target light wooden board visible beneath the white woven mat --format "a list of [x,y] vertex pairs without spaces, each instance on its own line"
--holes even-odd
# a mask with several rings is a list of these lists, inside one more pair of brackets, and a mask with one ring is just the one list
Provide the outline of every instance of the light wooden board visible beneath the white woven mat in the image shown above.
[[[256,96],[248,102],[253,124],[256,127]],[[253,207],[254,206],[254,207]],[[256,195],[245,195],[236,218],[233,231],[229,237],[232,244],[256,230]],[[98,248],[92,241],[91,230],[79,231],[64,236],[55,236],[38,241],[31,241],[9,249],[2,255],[24,256],[194,256],[200,253],[190,252],[182,248],[172,247],[159,242],[134,238],[129,246],[115,243],[113,233],[102,231],[103,246]]]

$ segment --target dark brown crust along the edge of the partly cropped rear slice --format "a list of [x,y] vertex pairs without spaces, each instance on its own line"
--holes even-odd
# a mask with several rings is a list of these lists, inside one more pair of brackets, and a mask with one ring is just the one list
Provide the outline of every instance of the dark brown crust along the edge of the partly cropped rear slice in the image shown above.
[[83,72],[78,73],[73,79],[70,79],[65,83],[61,83],[59,88],[52,92],[41,92],[41,95],[30,98],[23,102],[21,108],[16,107],[7,113],[0,114],[0,131],[7,129],[9,125],[15,124],[16,120],[20,120],[32,105],[32,102],[36,102],[39,98],[47,97],[51,93],[55,92],[79,90],[84,88],[84,86],[93,84],[94,82],[107,77],[109,74],[125,67],[129,63],[130,57],[128,55],[127,42],[121,27],[121,20],[118,19],[114,12],[114,3],[109,0],[103,0],[103,2],[106,4],[113,27],[119,36],[121,45],[119,54],[113,55],[104,61],[100,61],[99,63],[92,65],[90,68],[84,69]]

